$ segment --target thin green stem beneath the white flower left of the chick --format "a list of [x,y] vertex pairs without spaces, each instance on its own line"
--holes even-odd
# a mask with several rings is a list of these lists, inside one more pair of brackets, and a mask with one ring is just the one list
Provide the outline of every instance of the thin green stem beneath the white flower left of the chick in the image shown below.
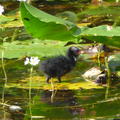
[[32,108],[31,108],[31,101],[32,101],[32,96],[31,96],[31,92],[32,92],[32,74],[33,74],[33,66],[30,68],[30,80],[29,80],[29,112],[30,112],[30,119],[32,120]]

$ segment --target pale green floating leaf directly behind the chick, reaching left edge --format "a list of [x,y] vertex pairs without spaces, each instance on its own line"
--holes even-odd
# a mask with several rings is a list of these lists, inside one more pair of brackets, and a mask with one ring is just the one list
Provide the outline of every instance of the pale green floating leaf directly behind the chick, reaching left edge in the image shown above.
[[[32,43],[34,41],[34,43]],[[38,42],[39,41],[39,42]],[[4,58],[20,58],[23,56],[49,57],[63,54],[67,47],[63,47],[65,42],[58,41],[40,41],[38,39],[28,40],[25,42],[14,41],[12,43],[4,42]],[[0,49],[0,58],[1,52]]]

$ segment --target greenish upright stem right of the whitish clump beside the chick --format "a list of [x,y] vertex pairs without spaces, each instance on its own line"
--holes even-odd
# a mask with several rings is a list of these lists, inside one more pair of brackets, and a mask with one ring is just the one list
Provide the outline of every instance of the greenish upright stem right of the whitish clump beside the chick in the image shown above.
[[105,66],[106,66],[106,69],[107,69],[107,88],[106,88],[106,93],[105,93],[105,99],[108,98],[108,95],[109,95],[109,89],[110,89],[110,85],[111,85],[111,71],[110,71],[110,68],[109,68],[109,65],[108,65],[108,57],[105,57]]

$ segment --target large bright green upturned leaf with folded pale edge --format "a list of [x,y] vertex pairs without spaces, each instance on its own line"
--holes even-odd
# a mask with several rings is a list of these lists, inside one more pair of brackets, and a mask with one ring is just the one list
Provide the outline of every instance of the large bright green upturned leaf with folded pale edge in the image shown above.
[[74,40],[80,29],[75,24],[47,14],[21,2],[21,17],[26,30],[42,40]]

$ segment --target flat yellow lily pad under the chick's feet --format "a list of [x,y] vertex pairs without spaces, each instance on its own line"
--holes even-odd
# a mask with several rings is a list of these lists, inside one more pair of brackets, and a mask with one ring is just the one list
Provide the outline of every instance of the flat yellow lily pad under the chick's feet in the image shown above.
[[[82,89],[102,88],[101,86],[98,86],[93,82],[81,80],[81,78],[79,78],[80,82],[76,82],[76,83],[71,83],[69,80],[66,81],[66,79],[67,78],[64,78],[62,83],[57,83],[56,82],[57,80],[53,79],[54,90],[78,90],[81,88]],[[9,83],[7,87],[29,89],[29,81],[30,81],[30,78],[26,78],[21,80],[21,83],[17,85],[13,83],[11,84]],[[51,84],[47,84],[45,82],[45,77],[41,77],[41,76],[33,76],[31,85],[32,85],[31,87],[34,89],[52,90]]]

